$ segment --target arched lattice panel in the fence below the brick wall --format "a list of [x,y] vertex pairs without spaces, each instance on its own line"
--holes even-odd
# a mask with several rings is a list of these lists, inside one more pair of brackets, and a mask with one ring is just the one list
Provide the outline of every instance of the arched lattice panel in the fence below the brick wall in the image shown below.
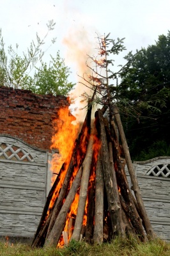
[[26,152],[23,148],[7,143],[0,143],[0,159],[7,159],[12,161],[35,162],[31,154]]

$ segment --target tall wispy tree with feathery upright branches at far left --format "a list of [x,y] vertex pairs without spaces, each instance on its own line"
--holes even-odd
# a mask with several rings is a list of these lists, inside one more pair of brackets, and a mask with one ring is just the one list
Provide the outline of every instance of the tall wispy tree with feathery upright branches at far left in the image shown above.
[[[36,33],[36,42],[33,40],[31,41],[31,44],[27,48],[27,52],[22,52],[22,57],[18,54],[18,44],[16,44],[15,50],[12,45],[10,45],[8,47],[8,55],[6,54],[2,31],[0,29],[1,84],[8,87],[24,88],[26,85],[25,83],[31,79],[29,73],[36,67],[38,61],[42,60],[47,49],[56,42],[56,38],[52,38],[52,44],[45,51],[42,51],[42,45],[45,44],[45,39],[49,35],[49,32],[54,29],[54,26],[55,22],[50,20],[47,23],[47,33],[43,38],[40,38],[38,33]],[[8,57],[10,58],[8,59]]]

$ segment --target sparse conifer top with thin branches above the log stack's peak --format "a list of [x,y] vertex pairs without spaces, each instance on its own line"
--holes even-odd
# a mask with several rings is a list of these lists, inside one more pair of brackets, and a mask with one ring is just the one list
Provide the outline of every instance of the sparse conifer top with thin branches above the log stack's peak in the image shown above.
[[[109,35],[97,36],[98,55],[96,57],[88,56],[88,61],[86,61],[87,67],[91,70],[91,75],[84,74],[82,77],[84,79],[83,84],[93,91],[93,102],[102,106],[115,104],[118,77],[123,72],[123,68],[118,72],[112,71],[110,67],[114,66],[114,60],[109,57],[111,54],[119,54],[125,50],[123,45],[125,38],[112,40],[109,39]],[[91,65],[91,62],[93,65]],[[87,96],[85,93],[84,97]]]

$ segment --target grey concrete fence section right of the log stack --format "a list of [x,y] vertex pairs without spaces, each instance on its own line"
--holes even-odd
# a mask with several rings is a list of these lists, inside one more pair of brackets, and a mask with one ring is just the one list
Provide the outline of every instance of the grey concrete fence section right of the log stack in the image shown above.
[[170,241],[170,156],[136,161],[134,168],[153,230]]

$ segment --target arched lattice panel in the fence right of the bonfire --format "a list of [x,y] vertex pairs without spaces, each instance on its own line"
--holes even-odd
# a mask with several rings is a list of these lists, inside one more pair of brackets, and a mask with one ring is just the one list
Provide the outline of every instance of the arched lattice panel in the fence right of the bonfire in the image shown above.
[[158,164],[148,170],[146,175],[170,178],[170,164]]

